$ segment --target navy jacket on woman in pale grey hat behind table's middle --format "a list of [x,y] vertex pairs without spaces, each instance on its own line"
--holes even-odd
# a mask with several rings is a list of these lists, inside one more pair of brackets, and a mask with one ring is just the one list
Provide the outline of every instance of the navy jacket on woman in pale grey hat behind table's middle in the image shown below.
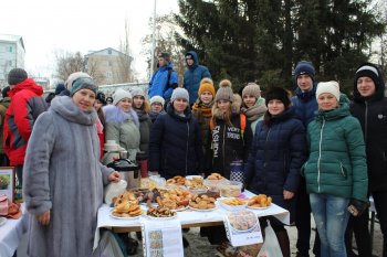
[[159,115],[151,128],[149,170],[158,171],[167,180],[201,173],[203,153],[199,124],[189,107],[185,115],[176,115],[168,105],[167,114]]

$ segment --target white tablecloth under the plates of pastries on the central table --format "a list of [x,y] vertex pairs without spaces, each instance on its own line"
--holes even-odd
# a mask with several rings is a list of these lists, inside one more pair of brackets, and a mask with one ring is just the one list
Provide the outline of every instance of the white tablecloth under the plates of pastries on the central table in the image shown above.
[[[243,192],[244,196],[251,197],[253,194],[249,191]],[[145,206],[143,206],[145,208]],[[265,210],[251,210],[250,211],[257,213],[258,216],[275,216],[278,219],[280,219],[284,224],[290,224],[290,213],[275,205],[271,204]],[[97,243],[100,240],[100,228],[102,227],[139,227],[142,225],[142,219],[147,218],[145,216],[142,216],[136,219],[118,219],[111,216],[112,207],[109,207],[107,204],[104,204],[98,210],[98,223],[97,223],[97,229],[95,233],[95,240],[94,240],[94,247],[97,246]],[[200,224],[200,223],[209,223],[209,222],[222,222],[223,216],[228,211],[222,207],[217,207],[217,210],[211,212],[197,212],[192,210],[187,210],[184,212],[177,213],[177,218],[180,221],[181,225],[194,225]]]

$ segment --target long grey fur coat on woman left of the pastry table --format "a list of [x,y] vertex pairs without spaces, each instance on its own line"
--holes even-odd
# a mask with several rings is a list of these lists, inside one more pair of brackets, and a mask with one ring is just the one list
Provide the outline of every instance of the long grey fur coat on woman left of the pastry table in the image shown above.
[[[103,185],[113,171],[100,163],[97,114],[55,97],[33,128],[25,156],[23,197],[30,257],[92,256]],[[36,215],[51,211],[50,224]]]

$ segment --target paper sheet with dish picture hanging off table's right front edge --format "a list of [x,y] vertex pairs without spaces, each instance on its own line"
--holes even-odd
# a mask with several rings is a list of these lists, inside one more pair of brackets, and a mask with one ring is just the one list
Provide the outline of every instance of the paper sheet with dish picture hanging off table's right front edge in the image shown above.
[[263,242],[260,222],[251,211],[227,213],[224,227],[233,247]]

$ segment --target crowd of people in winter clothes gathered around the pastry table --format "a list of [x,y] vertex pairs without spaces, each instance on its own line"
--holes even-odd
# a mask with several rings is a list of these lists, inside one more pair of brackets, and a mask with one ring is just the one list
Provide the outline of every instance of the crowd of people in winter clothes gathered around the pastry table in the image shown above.
[[[192,51],[186,54],[182,87],[169,55],[158,61],[148,94],[117,89],[112,104],[90,75],[75,73],[64,83],[69,96],[55,96],[48,108],[41,87],[23,69],[10,72],[3,144],[31,214],[29,256],[97,255],[92,246],[103,186],[119,180],[102,164],[106,140],[119,143],[132,160],[145,153],[149,171],[166,179],[211,172],[230,179],[231,163],[243,162],[244,186],[290,212],[299,257],[310,256],[311,212],[316,256],[352,256],[352,240],[345,240],[352,233],[359,256],[372,256],[373,195],[387,256],[387,101],[376,65],[358,67],[349,101],[337,82],[317,83],[306,61],[295,66],[294,96],[279,86],[265,98],[255,83],[239,95],[222,79],[216,90]],[[291,256],[284,224],[272,217],[262,224],[266,219],[283,256]],[[201,235],[226,250],[222,229]]]

